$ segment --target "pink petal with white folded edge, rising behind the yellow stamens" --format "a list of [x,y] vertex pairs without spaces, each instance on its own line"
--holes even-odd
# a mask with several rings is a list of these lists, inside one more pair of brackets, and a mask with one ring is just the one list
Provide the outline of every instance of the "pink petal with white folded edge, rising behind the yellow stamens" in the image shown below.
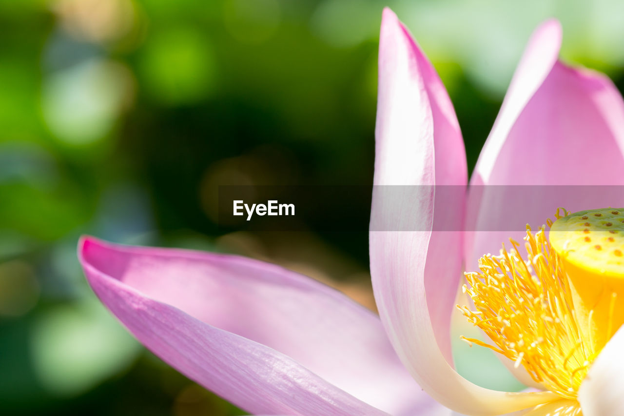
[[536,31],[475,167],[468,270],[509,237],[522,238],[524,224],[545,224],[557,207],[624,204],[620,189],[592,187],[624,184],[622,97],[602,74],[558,62],[560,37],[552,21]]

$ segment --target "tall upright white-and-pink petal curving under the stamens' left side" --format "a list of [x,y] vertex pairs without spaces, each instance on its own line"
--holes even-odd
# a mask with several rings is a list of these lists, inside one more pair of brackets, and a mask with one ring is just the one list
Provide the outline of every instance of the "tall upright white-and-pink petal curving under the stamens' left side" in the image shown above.
[[[436,314],[446,308],[450,313],[452,308],[461,277],[461,234],[445,231],[446,250],[436,245],[439,240],[431,230],[440,200],[439,189],[431,185],[459,184],[461,188],[466,171],[459,130],[451,128],[456,127],[449,113],[452,107],[434,74],[401,22],[386,9],[379,44],[376,187],[370,233],[375,299],[399,357],[434,399],[464,414],[525,409],[556,396],[482,389],[459,376],[440,348],[446,347],[448,335],[439,330],[448,331],[449,322],[442,322]],[[451,162],[445,165],[446,155],[455,167]],[[449,202],[447,198],[442,201]],[[462,193],[454,202],[456,216],[462,217]],[[392,231],[383,231],[382,225]]]

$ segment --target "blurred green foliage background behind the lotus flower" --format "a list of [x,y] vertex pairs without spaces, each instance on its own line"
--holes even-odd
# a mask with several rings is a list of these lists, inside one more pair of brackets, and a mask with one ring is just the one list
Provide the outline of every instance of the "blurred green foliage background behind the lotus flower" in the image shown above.
[[[242,414],[110,317],[80,234],[250,255],[374,309],[365,232],[224,231],[215,206],[219,184],[372,182],[383,6],[441,74],[470,168],[546,17],[566,61],[624,86],[615,0],[0,0],[1,414]],[[486,350],[456,353],[520,388]]]

